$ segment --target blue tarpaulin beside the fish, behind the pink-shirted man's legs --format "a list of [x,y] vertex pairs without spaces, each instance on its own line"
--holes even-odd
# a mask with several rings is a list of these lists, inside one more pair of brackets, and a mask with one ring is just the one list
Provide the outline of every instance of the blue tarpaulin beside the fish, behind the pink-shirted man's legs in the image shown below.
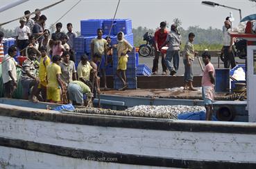
[[[205,120],[206,113],[205,111],[200,112],[185,112],[178,115],[180,120]],[[212,116],[212,121],[218,121],[216,117]]]

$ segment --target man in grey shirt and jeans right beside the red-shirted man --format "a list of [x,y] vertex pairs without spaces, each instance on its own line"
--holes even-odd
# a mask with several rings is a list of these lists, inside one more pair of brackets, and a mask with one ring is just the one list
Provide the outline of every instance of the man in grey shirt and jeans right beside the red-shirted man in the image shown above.
[[[165,58],[165,62],[167,64],[167,68],[170,71],[170,75],[173,76],[178,72],[179,61],[180,61],[180,44],[181,44],[181,35],[177,30],[177,25],[171,25],[171,32],[167,35],[167,40],[163,44],[166,46],[168,44],[167,49],[167,57]],[[173,64],[171,60],[173,59]]]

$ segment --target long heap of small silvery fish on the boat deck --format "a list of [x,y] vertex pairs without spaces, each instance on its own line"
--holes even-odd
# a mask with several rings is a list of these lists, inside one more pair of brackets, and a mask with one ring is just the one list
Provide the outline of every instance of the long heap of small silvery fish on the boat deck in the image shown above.
[[75,112],[98,115],[118,115],[129,117],[150,117],[164,119],[178,119],[178,115],[185,112],[199,112],[205,110],[203,106],[134,106],[126,110],[110,110],[101,108],[76,108]]

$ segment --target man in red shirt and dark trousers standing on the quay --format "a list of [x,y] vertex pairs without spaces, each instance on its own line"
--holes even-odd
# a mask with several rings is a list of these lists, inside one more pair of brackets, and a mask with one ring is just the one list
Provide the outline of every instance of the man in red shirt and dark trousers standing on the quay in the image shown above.
[[162,52],[160,52],[161,46],[164,44],[164,42],[167,39],[168,31],[167,31],[166,27],[167,27],[167,23],[162,21],[160,23],[160,29],[155,32],[155,58],[153,60],[153,68],[152,68],[153,74],[157,74],[158,59],[159,59],[160,55],[162,57],[162,72],[163,72],[163,74],[166,74],[166,71],[167,71],[167,66],[166,66],[165,60],[164,60],[164,54]]

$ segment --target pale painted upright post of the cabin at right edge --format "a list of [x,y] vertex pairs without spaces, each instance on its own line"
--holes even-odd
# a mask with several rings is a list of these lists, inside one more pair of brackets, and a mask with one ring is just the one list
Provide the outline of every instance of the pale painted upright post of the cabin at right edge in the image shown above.
[[249,122],[256,122],[256,74],[253,72],[253,51],[256,46],[247,46],[247,101]]

